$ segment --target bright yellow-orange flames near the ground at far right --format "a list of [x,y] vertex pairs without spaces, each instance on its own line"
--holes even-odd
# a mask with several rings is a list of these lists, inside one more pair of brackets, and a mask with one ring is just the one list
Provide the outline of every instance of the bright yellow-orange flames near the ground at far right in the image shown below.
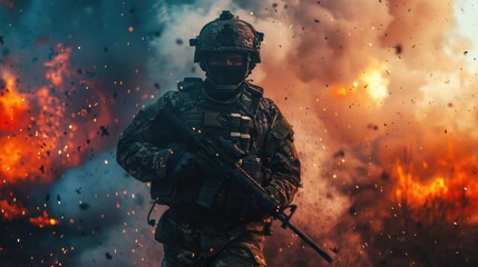
[[[428,164],[422,164],[422,170]],[[448,176],[416,170],[413,164],[404,167],[397,160],[398,181],[392,198],[412,208],[430,208],[439,204],[440,212],[450,221],[478,222],[478,182],[467,175],[466,168],[456,167]],[[436,170],[438,172],[438,170]]]

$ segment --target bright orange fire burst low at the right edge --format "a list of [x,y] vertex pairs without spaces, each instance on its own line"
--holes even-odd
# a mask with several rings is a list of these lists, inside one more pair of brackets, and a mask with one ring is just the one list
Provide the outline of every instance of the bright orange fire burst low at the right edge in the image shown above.
[[475,158],[435,160],[432,170],[426,161],[416,166],[416,161],[403,165],[397,160],[392,172],[397,178],[394,200],[413,209],[428,208],[450,222],[476,225],[478,181],[472,174],[477,164]]

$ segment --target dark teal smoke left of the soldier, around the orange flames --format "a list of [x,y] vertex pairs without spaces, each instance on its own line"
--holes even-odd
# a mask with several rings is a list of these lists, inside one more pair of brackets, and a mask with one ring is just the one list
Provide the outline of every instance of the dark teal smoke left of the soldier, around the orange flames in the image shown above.
[[[95,141],[79,140],[85,147],[81,166],[67,170],[53,165],[52,184],[38,179],[2,187],[0,196],[13,192],[29,217],[45,210],[60,222],[39,228],[27,216],[2,221],[2,266],[131,266],[160,260],[159,245],[143,224],[148,190],[116,166],[111,151],[120,130],[163,83],[149,48],[162,37],[160,4],[0,1],[0,71],[14,73],[25,96],[48,86],[51,95],[66,99],[56,103],[66,107],[66,116],[86,110],[75,121],[84,125],[80,130],[97,131]],[[70,48],[71,55],[61,62],[68,65],[64,82],[50,86],[45,62],[58,56],[59,46]],[[89,122],[98,116],[95,106],[89,107],[96,102],[107,105],[111,115],[107,125]],[[35,115],[42,107],[29,108]],[[41,166],[43,172],[47,167]]]

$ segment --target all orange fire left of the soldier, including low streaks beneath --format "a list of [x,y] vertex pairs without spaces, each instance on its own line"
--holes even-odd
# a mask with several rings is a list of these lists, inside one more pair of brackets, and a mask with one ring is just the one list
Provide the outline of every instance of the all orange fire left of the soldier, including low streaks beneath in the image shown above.
[[[58,171],[79,165],[86,151],[101,146],[101,140],[96,141],[101,138],[99,129],[111,123],[105,96],[86,81],[81,86],[87,91],[80,95],[86,97],[76,102],[68,99],[71,88],[65,79],[75,75],[69,69],[71,49],[62,44],[55,49],[56,56],[43,63],[49,85],[36,92],[20,93],[16,75],[0,69],[0,208],[4,219],[27,214],[17,200],[2,197],[9,185],[53,180]],[[75,90],[78,95],[79,89]],[[58,222],[46,214],[30,221]]]

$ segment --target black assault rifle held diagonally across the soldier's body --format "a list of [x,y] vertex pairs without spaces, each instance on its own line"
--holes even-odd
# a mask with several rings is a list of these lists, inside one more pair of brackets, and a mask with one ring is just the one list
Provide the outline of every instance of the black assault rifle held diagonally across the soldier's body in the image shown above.
[[[252,192],[257,198],[261,208],[269,215],[279,219],[282,222],[282,228],[291,229],[303,241],[319,253],[326,261],[332,263],[333,258],[316,245],[308,235],[301,231],[291,222],[291,218],[296,210],[295,205],[281,210],[279,202],[264,190],[264,188],[255,181],[247,172],[238,165],[238,159],[244,156],[244,152],[233,142],[225,139],[212,139],[202,135],[197,129],[192,129],[169,109],[164,108],[158,112],[156,120],[160,121],[162,128],[169,132],[174,132],[173,141],[186,144],[195,149],[195,152],[205,162],[209,164],[221,177],[232,179],[237,186]],[[211,207],[214,200],[215,192],[211,188],[217,188],[221,185],[221,179],[208,179],[205,182],[212,182],[211,187],[199,191],[198,204]],[[209,188],[209,189],[207,189]],[[289,214],[284,210],[289,209]]]

